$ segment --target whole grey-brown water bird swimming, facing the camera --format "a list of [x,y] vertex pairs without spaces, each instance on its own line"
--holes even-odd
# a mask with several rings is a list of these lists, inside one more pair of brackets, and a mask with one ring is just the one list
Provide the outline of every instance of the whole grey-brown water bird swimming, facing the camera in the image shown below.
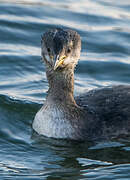
[[39,134],[75,140],[109,139],[130,133],[130,86],[92,90],[74,99],[74,68],[80,58],[77,32],[53,29],[42,37],[49,90],[36,114]]

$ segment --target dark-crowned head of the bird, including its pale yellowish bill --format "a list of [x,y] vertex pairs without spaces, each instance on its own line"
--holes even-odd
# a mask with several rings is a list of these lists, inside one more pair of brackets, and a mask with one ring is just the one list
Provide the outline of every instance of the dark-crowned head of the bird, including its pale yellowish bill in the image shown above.
[[80,58],[80,35],[69,29],[52,29],[41,40],[42,59],[51,71],[75,67]]

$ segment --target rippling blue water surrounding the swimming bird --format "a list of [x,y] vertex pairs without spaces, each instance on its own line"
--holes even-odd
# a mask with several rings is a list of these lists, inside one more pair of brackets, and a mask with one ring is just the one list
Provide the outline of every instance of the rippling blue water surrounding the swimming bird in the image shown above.
[[130,179],[130,140],[78,143],[32,131],[48,89],[40,38],[57,26],[81,35],[75,95],[130,84],[129,0],[0,0],[0,179]]

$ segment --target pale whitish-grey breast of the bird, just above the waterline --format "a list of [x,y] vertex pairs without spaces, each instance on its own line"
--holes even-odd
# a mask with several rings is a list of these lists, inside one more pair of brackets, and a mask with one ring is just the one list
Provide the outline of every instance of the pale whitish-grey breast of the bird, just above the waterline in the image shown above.
[[53,138],[72,138],[74,128],[65,119],[64,112],[58,107],[43,106],[35,116],[33,129],[41,135]]

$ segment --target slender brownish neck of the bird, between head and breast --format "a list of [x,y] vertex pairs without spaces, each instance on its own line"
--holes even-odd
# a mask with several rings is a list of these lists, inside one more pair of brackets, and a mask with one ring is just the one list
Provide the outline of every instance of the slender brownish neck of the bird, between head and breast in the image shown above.
[[46,72],[49,82],[47,100],[58,103],[76,104],[74,100],[74,68]]

